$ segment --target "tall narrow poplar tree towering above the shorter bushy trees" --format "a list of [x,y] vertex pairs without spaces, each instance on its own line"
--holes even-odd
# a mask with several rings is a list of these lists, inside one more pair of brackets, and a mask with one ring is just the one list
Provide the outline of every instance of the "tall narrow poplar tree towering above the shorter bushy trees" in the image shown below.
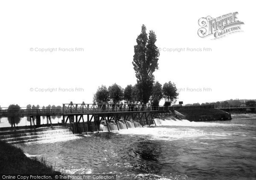
[[134,65],[137,78],[137,87],[141,91],[140,100],[146,104],[151,96],[154,83],[154,71],[158,70],[159,51],[155,42],[157,41],[154,31],[146,33],[146,27],[143,24],[141,33],[138,35],[137,45],[134,46]]

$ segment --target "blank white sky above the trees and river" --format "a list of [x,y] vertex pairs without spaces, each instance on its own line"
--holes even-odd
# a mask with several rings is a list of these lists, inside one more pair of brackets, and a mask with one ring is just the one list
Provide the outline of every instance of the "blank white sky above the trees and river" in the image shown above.
[[[161,48],[155,80],[174,82],[177,102],[256,99],[254,7],[238,0],[1,1],[0,106],[92,103],[102,84],[135,84],[132,61],[142,24]],[[198,36],[199,18],[230,12],[239,13],[242,32]],[[167,51],[172,48],[212,50]]]

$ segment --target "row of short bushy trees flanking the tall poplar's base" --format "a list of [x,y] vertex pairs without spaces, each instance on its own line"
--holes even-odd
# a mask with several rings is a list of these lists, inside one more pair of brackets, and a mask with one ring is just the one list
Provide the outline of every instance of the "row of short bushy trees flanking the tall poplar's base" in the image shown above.
[[170,106],[175,103],[179,93],[174,83],[171,81],[165,84],[160,84],[158,81],[154,82],[152,91],[148,101],[145,102],[141,89],[138,84],[127,85],[124,89],[118,84],[112,84],[108,88],[105,85],[98,87],[96,93],[93,96],[93,102],[98,104],[148,104],[152,106],[159,106],[161,99],[164,99],[164,105]]

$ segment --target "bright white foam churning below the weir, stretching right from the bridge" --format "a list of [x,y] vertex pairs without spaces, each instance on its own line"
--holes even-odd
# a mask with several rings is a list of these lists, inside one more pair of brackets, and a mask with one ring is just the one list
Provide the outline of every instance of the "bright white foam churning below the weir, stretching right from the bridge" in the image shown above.
[[[120,121],[118,124],[124,124],[123,128],[117,127],[115,124],[108,123],[110,129],[114,128],[114,133],[127,134],[127,135],[145,135],[150,136],[151,139],[159,140],[176,140],[184,138],[197,138],[201,139],[229,139],[229,133],[210,132],[204,129],[207,127],[216,126],[234,126],[234,124],[216,123],[216,122],[190,122],[186,119],[176,119],[174,117],[165,117],[165,119],[154,119],[157,126],[151,125],[150,127],[137,127],[126,128],[125,123]],[[239,124],[236,124],[238,126]],[[119,125],[120,127],[120,125]],[[134,127],[134,126],[133,126]],[[205,128],[206,127],[206,128]],[[103,131],[108,131],[106,125],[101,125]],[[210,129],[210,128],[208,128]]]

